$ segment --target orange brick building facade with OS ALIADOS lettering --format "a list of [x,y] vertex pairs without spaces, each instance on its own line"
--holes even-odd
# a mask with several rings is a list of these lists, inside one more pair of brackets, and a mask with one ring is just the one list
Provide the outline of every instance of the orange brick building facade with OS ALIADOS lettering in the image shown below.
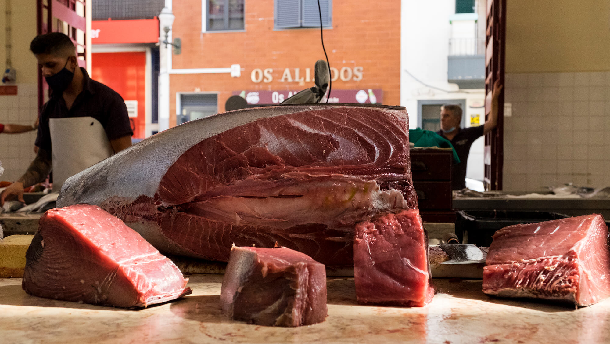
[[[196,89],[218,92],[218,110],[237,90],[303,90],[314,85],[280,82],[284,68],[311,68],[324,59],[320,29],[273,29],[273,0],[245,0],[245,32],[201,32],[201,0],[173,2],[173,37],[182,53],[173,68],[228,68],[241,65],[242,76],[222,74],[170,75],[170,126],[176,123],[176,92]],[[362,66],[361,81],[332,82],[333,89],[381,88],[383,103],[400,101],[400,0],[333,1],[332,29],[324,30],[331,67]],[[254,83],[255,68],[273,68],[273,81]],[[294,77],[294,75],[293,75]],[[332,96],[332,94],[331,94]]]

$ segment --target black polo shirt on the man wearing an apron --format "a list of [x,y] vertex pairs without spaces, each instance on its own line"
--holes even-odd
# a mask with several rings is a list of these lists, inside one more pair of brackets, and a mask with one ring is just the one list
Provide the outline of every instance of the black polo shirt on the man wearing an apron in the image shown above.
[[83,88],[74,99],[70,110],[66,106],[62,93],[58,93],[51,94],[51,99],[46,102],[40,114],[35,145],[48,151],[49,155],[51,154],[49,118],[93,117],[104,127],[108,140],[134,135],[123,98],[112,88],[92,80],[85,68],[81,68],[81,71]]

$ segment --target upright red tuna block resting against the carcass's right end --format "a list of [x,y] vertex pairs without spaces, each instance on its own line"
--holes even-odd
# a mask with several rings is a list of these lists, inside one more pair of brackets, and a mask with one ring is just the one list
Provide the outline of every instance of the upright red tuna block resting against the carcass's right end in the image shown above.
[[428,235],[419,210],[389,213],[356,225],[354,281],[361,304],[421,307],[432,301]]

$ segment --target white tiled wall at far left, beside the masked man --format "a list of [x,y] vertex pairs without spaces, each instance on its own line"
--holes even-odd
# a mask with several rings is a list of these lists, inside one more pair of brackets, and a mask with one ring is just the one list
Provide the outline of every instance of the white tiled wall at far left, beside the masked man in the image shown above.
[[[34,124],[38,115],[36,84],[17,84],[16,96],[0,96],[0,123]],[[36,131],[0,134],[0,162],[4,174],[0,181],[15,181],[34,159]]]

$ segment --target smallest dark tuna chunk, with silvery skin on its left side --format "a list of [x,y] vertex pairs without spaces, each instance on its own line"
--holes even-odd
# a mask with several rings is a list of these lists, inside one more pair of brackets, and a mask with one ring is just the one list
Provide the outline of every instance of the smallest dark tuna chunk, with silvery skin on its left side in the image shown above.
[[303,253],[231,248],[220,290],[223,313],[265,326],[301,326],[326,318],[326,268]]

